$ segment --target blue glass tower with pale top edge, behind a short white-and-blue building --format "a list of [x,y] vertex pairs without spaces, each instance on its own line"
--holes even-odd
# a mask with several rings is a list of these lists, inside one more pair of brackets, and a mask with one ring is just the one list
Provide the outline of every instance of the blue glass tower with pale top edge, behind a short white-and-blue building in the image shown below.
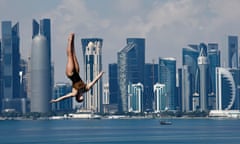
[[159,83],[166,86],[167,108],[176,109],[176,59],[175,58],[159,58],[158,70]]

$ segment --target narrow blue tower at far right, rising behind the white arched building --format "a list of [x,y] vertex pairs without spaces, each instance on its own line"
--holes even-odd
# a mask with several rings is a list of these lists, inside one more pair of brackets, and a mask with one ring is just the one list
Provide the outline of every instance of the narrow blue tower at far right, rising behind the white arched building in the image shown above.
[[228,66],[238,68],[238,37],[228,36]]

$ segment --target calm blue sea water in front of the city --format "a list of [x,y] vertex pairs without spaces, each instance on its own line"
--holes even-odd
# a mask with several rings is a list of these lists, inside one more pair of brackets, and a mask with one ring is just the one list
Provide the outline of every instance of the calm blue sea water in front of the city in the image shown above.
[[0,121],[3,144],[239,144],[240,120],[172,119]]

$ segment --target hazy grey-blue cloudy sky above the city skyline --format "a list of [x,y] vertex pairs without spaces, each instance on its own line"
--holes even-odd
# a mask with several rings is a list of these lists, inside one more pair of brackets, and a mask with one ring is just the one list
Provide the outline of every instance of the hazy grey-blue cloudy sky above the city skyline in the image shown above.
[[19,22],[21,55],[27,58],[32,20],[51,19],[55,82],[68,81],[69,33],[76,35],[80,67],[81,39],[102,38],[106,81],[108,64],[117,62],[117,52],[126,46],[127,38],[146,39],[146,63],[174,57],[180,67],[182,48],[201,42],[218,43],[224,58],[227,36],[240,34],[239,6],[239,0],[0,0],[0,21]]

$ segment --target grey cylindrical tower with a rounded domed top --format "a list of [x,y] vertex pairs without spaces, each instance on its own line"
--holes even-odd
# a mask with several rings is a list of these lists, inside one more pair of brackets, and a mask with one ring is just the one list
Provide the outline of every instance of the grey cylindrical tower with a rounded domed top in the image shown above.
[[46,113],[50,110],[51,60],[45,36],[36,35],[31,52],[31,112]]

